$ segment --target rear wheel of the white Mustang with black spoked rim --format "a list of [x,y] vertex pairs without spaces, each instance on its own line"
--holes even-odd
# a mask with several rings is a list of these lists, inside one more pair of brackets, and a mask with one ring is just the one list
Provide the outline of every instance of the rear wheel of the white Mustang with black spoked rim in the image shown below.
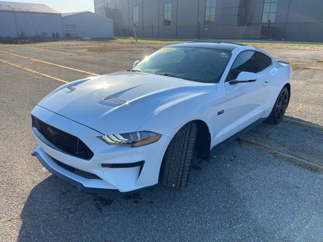
[[268,117],[268,123],[277,125],[282,122],[286,108],[288,106],[289,92],[286,87],[279,93],[271,114]]

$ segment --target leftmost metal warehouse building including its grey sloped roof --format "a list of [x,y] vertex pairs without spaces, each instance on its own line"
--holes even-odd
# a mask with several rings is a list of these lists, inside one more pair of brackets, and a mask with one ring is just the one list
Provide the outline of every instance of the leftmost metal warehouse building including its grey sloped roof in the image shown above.
[[0,1],[0,37],[63,36],[62,17],[42,4]]

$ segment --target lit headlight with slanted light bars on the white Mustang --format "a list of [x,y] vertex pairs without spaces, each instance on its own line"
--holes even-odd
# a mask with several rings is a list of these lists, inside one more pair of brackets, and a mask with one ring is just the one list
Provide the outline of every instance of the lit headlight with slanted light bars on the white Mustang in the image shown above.
[[158,141],[160,137],[161,135],[153,132],[139,131],[126,134],[103,135],[98,138],[109,145],[130,145],[132,147],[138,147],[154,143]]

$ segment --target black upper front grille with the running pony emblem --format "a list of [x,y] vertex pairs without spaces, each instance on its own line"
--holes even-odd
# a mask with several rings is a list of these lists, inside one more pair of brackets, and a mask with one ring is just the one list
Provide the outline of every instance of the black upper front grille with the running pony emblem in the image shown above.
[[81,159],[89,160],[93,157],[93,152],[79,138],[52,127],[35,116],[31,117],[32,126],[53,146]]

